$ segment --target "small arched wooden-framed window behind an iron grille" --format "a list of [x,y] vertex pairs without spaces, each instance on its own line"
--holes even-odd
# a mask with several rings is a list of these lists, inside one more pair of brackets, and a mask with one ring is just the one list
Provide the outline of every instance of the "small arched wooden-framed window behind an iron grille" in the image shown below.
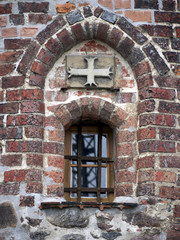
[[102,123],[73,125],[65,136],[67,201],[112,202],[114,198],[113,132]]

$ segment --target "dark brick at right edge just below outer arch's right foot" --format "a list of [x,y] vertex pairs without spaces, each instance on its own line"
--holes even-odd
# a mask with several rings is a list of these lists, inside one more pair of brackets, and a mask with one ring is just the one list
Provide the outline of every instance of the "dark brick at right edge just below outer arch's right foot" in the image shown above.
[[169,87],[169,88],[178,88],[180,84],[180,79],[171,76],[155,77],[155,81],[159,87]]

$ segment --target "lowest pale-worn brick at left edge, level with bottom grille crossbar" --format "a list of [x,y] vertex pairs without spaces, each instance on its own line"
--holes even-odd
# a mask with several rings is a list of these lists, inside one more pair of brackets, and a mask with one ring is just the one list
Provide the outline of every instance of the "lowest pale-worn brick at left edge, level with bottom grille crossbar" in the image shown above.
[[17,195],[19,188],[19,183],[0,184],[0,195]]

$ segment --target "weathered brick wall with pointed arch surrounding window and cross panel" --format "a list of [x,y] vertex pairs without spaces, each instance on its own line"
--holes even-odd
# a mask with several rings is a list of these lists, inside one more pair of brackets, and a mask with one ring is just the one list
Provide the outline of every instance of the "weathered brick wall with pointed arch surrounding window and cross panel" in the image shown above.
[[[6,206],[12,218],[1,217],[0,239],[53,238],[38,207],[63,197],[64,129],[98,111],[94,118],[117,128],[116,196],[140,206],[123,213],[132,224],[123,237],[178,240],[180,1],[71,2],[0,1],[0,202],[15,209]],[[68,51],[120,56],[119,95],[60,91]],[[101,225],[102,239],[121,239],[113,224],[111,235]]]

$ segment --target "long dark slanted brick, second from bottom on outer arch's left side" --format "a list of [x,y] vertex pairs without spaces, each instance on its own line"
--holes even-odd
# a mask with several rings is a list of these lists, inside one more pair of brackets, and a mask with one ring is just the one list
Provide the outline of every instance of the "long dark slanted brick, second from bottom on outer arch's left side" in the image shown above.
[[65,24],[66,22],[63,16],[57,16],[52,23],[47,25],[46,28],[37,35],[36,39],[40,44],[43,44],[48,38],[59,31]]

